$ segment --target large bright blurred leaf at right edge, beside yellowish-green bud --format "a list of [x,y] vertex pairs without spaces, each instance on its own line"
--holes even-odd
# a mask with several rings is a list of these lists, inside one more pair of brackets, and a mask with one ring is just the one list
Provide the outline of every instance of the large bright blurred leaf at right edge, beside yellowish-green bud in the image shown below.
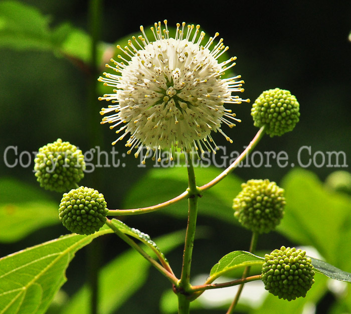
[[294,242],[315,247],[328,262],[341,263],[345,256],[339,248],[344,236],[351,236],[351,198],[327,191],[313,173],[301,169],[289,172],[281,186],[286,208],[277,230]]

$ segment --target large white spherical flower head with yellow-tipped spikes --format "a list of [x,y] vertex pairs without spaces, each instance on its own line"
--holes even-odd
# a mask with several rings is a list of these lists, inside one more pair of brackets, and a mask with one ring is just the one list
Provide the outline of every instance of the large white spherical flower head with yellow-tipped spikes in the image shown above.
[[160,22],[151,27],[154,41],[149,41],[140,26],[142,36],[138,40],[133,36],[129,47],[117,46],[126,59],[120,55],[119,62],[111,59],[115,66],[106,67],[117,74],[104,73],[105,77],[99,78],[104,85],[115,87],[113,94],[99,98],[115,103],[102,108],[101,114],[111,115],[101,123],[113,123],[111,129],[119,126],[116,133],[124,131],[112,144],[129,133],[127,153],[135,148],[136,158],[143,147],[145,158],[153,151],[152,159],[158,161],[162,149],[168,151],[169,160],[177,147],[183,152],[195,148],[198,156],[198,151],[203,154],[204,149],[216,152],[218,147],[211,131],[218,131],[233,142],[221,124],[233,127],[235,121],[240,122],[224,104],[249,101],[232,95],[244,90],[244,82],[237,81],[240,75],[221,78],[225,70],[235,65],[236,58],[218,62],[228,50],[223,39],[212,47],[218,33],[202,45],[205,33],[199,35],[200,25],[188,25],[185,33],[186,24],[177,24],[174,38],[169,37],[166,20],[164,25],[163,30]]

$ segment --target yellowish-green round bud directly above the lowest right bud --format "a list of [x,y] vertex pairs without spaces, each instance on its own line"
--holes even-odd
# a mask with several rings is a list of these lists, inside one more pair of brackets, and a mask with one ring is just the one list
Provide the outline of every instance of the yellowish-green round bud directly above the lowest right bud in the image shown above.
[[284,189],[275,182],[249,180],[233,201],[234,216],[247,229],[257,233],[273,230],[283,218]]

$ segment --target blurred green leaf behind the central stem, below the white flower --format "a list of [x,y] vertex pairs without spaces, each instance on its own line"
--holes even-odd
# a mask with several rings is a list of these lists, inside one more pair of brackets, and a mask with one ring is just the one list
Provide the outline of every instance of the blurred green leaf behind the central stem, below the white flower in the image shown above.
[[[202,186],[221,173],[215,167],[196,168],[196,182]],[[228,176],[213,188],[204,192],[199,200],[199,215],[206,215],[225,222],[236,222],[233,216],[233,198],[241,190],[242,181],[234,175]],[[145,189],[147,186],[147,189]],[[188,188],[186,168],[152,169],[141,178],[127,194],[124,208],[139,208],[158,204],[172,199]],[[157,191],[152,193],[150,191]],[[187,200],[182,200],[157,213],[186,218],[188,216]]]

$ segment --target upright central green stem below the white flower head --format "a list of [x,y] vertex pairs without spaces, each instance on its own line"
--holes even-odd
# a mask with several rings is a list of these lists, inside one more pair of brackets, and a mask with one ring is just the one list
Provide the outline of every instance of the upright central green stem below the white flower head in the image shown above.
[[[196,231],[196,220],[198,216],[198,197],[199,191],[196,186],[195,172],[192,159],[188,156],[187,158],[187,169],[188,169],[188,178],[189,178],[189,211],[188,211],[188,226],[187,233],[185,238],[184,254],[183,254],[183,266],[182,266],[182,275],[181,280],[178,284],[178,287],[182,292],[186,292],[191,288],[190,285],[190,269],[192,263],[192,255],[194,248],[194,238]],[[182,294],[180,292],[179,294]],[[179,314],[189,313],[190,301],[185,295],[178,296],[179,304]]]

